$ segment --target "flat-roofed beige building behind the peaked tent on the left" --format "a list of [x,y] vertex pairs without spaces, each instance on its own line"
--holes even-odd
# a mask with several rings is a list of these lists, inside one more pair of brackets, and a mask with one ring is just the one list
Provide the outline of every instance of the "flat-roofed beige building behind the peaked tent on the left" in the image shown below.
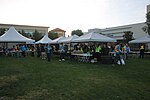
[[17,31],[24,30],[25,33],[32,34],[37,30],[41,34],[46,34],[48,32],[47,26],[30,26],[30,25],[16,25],[16,24],[0,24],[0,28],[9,29],[11,26],[14,26]]

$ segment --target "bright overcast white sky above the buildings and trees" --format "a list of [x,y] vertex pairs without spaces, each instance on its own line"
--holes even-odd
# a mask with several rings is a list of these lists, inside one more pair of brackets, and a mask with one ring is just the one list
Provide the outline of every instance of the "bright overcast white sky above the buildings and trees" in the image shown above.
[[80,29],[110,28],[146,21],[150,0],[0,0],[0,23]]

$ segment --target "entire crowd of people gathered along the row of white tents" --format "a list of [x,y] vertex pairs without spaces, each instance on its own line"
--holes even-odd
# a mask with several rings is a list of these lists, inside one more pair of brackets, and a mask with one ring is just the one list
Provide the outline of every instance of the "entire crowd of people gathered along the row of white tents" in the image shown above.
[[[1,48],[2,49],[2,48]],[[59,52],[59,61],[65,61],[65,55],[68,52],[68,46],[61,43],[57,50],[55,50],[55,46],[50,44],[36,44],[36,45],[26,45],[26,44],[17,44],[8,50],[7,48],[3,48],[4,55],[7,55],[8,51],[14,51],[15,56],[26,57],[27,52],[30,51],[30,55],[41,59],[47,59],[51,61],[51,57],[53,51]],[[144,45],[140,46],[140,58],[144,58]],[[114,64],[125,64],[124,60],[129,58],[130,47],[128,44],[123,43],[76,43],[73,45],[73,49],[70,49],[72,53],[87,53],[91,54],[90,61],[94,60],[95,62],[101,61],[101,56],[113,56]]]

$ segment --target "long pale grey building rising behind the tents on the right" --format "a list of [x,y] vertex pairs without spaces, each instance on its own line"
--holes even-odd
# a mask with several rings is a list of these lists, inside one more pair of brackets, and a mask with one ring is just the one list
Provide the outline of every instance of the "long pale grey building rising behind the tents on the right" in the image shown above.
[[146,33],[146,23],[137,23],[137,24],[130,24],[130,25],[124,25],[124,26],[118,26],[118,27],[112,27],[112,28],[105,28],[105,29],[89,29],[88,32],[96,32],[96,33],[102,33],[106,36],[115,38],[117,40],[123,40],[123,36],[126,31],[133,32],[133,38],[139,38],[142,36],[145,36]]

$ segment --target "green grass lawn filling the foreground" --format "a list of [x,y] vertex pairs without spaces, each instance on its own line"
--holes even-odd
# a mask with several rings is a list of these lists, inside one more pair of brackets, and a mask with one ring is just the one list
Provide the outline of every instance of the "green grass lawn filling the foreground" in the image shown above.
[[0,100],[150,100],[150,57],[126,63],[0,57]]

